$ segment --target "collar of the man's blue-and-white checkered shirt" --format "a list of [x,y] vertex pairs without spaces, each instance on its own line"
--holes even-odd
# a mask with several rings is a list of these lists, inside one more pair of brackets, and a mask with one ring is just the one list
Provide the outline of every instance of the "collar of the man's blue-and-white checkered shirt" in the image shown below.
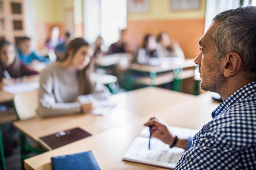
[[229,106],[236,103],[236,101],[243,100],[244,98],[247,98],[249,96],[253,96],[256,94],[256,81],[249,83],[245,85],[244,87],[240,88],[233,94],[231,94],[226,100],[224,100],[220,106],[218,106],[213,112],[212,112],[212,118],[215,118],[217,115],[222,113],[224,110],[226,110]]

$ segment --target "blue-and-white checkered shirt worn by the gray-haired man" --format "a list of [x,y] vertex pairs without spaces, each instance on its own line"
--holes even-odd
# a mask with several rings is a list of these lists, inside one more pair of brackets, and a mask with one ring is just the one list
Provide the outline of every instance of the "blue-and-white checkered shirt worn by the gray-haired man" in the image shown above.
[[177,163],[180,169],[256,169],[256,82],[234,92],[212,112]]

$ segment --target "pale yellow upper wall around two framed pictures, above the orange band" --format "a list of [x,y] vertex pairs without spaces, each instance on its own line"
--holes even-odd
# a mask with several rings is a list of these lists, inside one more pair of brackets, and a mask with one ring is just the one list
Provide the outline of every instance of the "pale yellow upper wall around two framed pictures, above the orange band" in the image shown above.
[[206,0],[200,0],[199,10],[171,11],[170,0],[150,0],[148,13],[127,14],[127,20],[199,19],[205,16]]

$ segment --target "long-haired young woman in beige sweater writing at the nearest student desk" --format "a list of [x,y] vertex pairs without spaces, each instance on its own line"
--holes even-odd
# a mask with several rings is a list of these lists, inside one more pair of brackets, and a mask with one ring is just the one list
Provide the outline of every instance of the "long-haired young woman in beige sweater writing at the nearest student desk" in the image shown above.
[[84,113],[92,110],[92,98],[108,97],[108,89],[91,80],[90,53],[88,42],[76,38],[69,43],[61,61],[42,71],[37,109],[40,116]]

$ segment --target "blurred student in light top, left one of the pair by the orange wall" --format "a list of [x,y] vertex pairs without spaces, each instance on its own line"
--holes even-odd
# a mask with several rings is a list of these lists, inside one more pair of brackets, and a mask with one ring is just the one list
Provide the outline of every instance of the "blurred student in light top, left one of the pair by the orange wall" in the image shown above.
[[143,45],[135,56],[135,62],[139,64],[157,65],[164,57],[162,49],[157,46],[156,37],[147,34],[144,37]]

